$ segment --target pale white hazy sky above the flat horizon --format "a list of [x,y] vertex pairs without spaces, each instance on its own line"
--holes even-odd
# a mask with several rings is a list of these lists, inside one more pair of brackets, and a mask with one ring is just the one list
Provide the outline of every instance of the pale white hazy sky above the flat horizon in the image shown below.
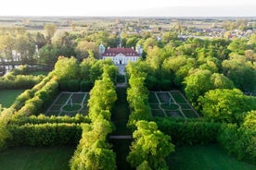
[[0,16],[256,17],[256,0],[4,0]]

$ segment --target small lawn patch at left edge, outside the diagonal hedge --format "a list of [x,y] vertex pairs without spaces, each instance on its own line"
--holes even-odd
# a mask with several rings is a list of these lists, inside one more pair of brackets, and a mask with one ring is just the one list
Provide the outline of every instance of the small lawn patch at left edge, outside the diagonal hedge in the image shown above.
[[25,90],[0,90],[0,104],[9,107],[15,99]]

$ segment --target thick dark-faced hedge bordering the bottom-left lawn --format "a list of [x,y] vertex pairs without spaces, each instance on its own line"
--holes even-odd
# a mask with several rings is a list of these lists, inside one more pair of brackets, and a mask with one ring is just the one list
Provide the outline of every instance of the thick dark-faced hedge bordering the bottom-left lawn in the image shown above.
[[6,128],[12,134],[7,140],[9,147],[76,145],[82,134],[82,128],[77,124],[26,124]]

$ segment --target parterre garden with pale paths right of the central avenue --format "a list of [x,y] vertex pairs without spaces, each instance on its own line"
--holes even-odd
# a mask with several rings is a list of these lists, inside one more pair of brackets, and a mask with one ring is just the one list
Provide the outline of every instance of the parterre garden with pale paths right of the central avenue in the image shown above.
[[199,116],[180,91],[150,91],[148,101],[153,116],[183,118]]

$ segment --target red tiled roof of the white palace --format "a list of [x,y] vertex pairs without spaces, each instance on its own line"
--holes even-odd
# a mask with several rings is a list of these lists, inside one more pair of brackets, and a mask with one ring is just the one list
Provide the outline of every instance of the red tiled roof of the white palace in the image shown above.
[[138,56],[137,52],[133,48],[109,48],[105,51],[103,56],[115,56],[122,54],[125,56]]

